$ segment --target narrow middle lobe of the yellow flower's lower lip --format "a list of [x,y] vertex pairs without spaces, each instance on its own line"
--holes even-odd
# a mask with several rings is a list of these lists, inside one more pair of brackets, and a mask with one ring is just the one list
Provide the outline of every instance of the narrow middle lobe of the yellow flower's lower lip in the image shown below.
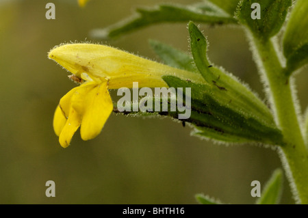
[[70,108],[70,113],[68,114],[68,120],[64,125],[62,132],[59,137],[60,145],[66,148],[70,145],[70,141],[77,131],[81,123],[81,116],[75,111],[75,109]]

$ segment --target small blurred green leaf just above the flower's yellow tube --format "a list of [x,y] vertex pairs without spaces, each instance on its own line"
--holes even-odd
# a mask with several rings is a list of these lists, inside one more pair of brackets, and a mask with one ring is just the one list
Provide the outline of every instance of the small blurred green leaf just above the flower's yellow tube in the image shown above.
[[172,46],[155,40],[150,40],[150,45],[165,64],[182,70],[198,72],[198,69],[196,69],[196,66],[193,64],[194,59],[192,59],[192,56],[188,55],[188,53],[184,53]]

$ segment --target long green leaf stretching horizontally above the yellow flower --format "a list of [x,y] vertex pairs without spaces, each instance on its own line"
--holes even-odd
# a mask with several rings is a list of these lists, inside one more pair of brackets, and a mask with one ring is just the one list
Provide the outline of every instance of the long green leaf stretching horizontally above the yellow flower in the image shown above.
[[166,22],[196,21],[210,25],[222,25],[237,21],[226,12],[209,2],[195,5],[157,5],[155,8],[138,8],[137,14],[105,29],[94,29],[90,34],[94,38],[116,38],[148,25]]

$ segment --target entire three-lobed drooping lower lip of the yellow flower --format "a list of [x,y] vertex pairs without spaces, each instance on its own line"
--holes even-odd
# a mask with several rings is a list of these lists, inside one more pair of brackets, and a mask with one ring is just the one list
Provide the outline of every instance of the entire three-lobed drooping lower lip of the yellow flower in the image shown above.
[[[93,139],[103,128],[112,112],[112,100],[107,90],[107,81],[94,81],[73,88],[60,100],[55,111],[54,128],[62,147],[70,141],[81,125],[81,138]],[[65,115],[64,115],[65,114]],[[67,120],[66,120],[67,117]]]

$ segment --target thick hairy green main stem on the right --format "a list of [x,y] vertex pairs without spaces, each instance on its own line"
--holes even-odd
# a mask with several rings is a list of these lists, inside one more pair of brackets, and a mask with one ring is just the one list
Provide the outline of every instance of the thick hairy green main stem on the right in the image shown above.
[[281,66],[270,40],[253,38],[259,68],[269,86],[269,97],[278,126],[283,132],[281,159],[297,203],[308,204],[308,151],[296,115],[290,77]]

